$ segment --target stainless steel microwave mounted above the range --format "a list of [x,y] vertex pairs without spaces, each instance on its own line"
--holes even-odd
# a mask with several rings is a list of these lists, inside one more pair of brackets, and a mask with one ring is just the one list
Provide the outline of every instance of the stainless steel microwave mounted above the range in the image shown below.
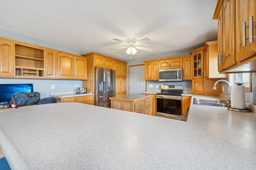
[[182,68],[160,69],[159,81],[182,81]]

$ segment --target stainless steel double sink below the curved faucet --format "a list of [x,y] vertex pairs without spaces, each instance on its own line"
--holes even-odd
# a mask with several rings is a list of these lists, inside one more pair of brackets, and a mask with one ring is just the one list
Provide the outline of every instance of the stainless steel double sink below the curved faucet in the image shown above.
[[218,99],[193,99],[193,104],[196,105],[208,105],[208,106],[220,106],[220,107],[228,107],[228,103]]

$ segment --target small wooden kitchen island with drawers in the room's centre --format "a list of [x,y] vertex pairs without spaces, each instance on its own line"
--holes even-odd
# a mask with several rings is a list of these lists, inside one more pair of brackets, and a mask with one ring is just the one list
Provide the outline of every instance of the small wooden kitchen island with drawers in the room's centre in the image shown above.
[[152,115],[152,95],[130,94],[109,99],[112,109]]

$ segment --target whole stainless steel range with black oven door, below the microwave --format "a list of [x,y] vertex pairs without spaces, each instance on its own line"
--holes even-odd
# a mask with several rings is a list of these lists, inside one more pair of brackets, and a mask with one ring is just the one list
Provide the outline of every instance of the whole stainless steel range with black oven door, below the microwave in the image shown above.
[[156,116],[181,120],[181,94],[183,85],[161,85],[156,94]]

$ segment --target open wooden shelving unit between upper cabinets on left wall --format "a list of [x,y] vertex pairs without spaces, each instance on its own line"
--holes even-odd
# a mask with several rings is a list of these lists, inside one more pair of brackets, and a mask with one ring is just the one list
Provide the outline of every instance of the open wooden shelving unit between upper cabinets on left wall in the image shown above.
[[15,75],[44,77],[44,50],[15,44]]

